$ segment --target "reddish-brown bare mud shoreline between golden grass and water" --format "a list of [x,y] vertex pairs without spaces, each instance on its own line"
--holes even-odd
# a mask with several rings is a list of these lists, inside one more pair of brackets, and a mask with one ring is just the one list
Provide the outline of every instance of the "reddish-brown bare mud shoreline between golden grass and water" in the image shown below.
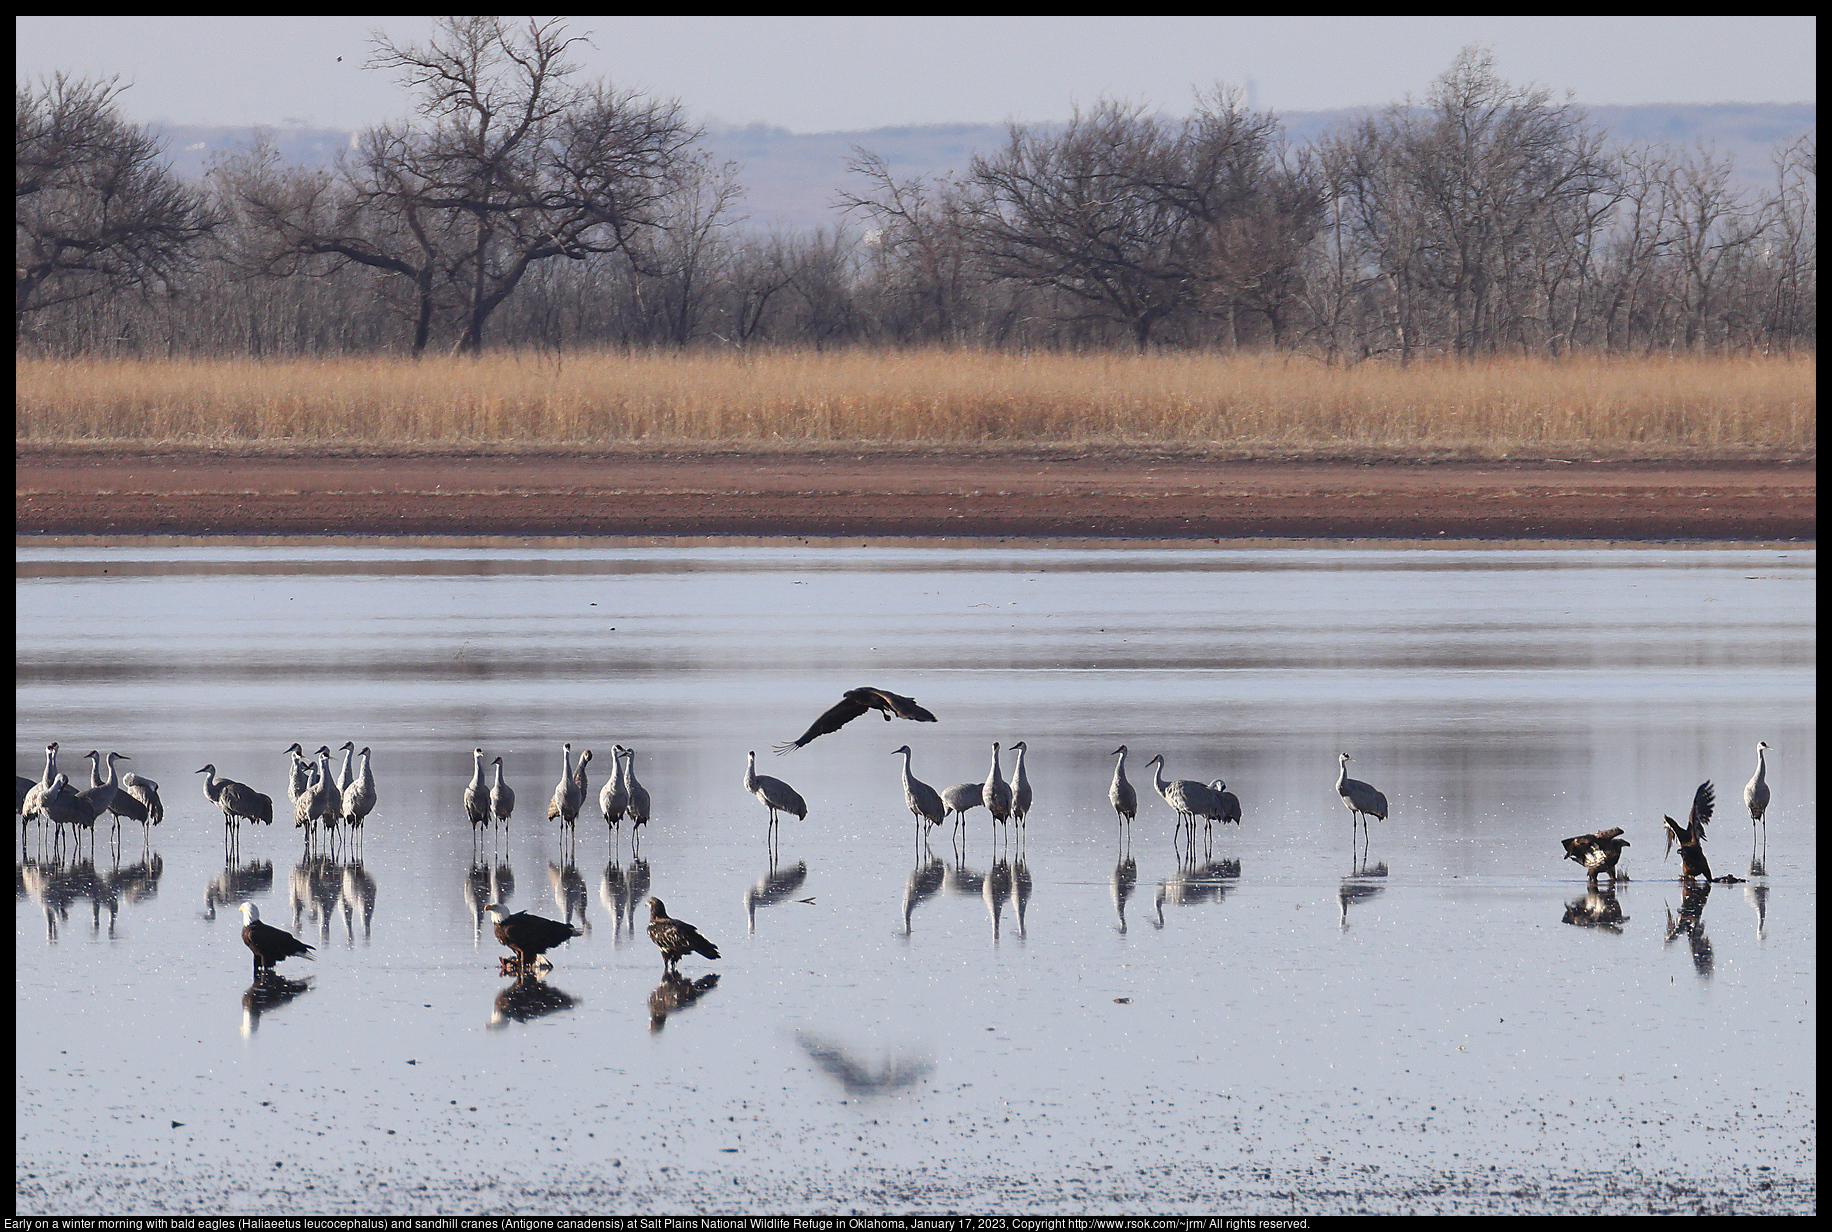
[[18,535],[1816,539],[1812,460],[878,449],[15,455]]

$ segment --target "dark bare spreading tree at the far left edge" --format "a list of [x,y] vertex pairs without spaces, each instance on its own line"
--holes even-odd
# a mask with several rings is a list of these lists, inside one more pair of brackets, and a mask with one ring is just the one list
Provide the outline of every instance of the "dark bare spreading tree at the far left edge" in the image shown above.
[[27,314],[169,284],[216,226],[203,194],[121,119],[115,81],[16,90],[15,326]]

